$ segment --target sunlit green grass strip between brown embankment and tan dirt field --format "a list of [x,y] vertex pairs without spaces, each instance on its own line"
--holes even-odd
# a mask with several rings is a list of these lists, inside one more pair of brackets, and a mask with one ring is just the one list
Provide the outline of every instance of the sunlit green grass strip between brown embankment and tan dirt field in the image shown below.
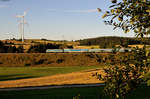
[[96,68],[100,68],[100,66],[0,67],[0,81],[50,76]]

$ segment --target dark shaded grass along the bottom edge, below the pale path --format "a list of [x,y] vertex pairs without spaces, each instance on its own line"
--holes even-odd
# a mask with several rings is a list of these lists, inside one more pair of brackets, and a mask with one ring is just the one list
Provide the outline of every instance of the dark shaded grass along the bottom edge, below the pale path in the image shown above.
[[[140,86],[127,99],[150,99],[150,87]],[[80,94],[81,99],[109,99],[104,96],[103,87],[60,88],[0,92],[1,99],[73,99]]]

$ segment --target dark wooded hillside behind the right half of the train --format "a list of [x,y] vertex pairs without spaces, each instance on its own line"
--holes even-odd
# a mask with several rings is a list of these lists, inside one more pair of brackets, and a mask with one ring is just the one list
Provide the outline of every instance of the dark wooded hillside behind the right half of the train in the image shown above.
[[145,38],[143,41],[139,38],[134,37],[117,37],[117,36],[106,36],[79,40],[80,45],[99,45],[101,48],[112,48],[115,45],[127,46],[137,44],[150,44],[150,38]]

